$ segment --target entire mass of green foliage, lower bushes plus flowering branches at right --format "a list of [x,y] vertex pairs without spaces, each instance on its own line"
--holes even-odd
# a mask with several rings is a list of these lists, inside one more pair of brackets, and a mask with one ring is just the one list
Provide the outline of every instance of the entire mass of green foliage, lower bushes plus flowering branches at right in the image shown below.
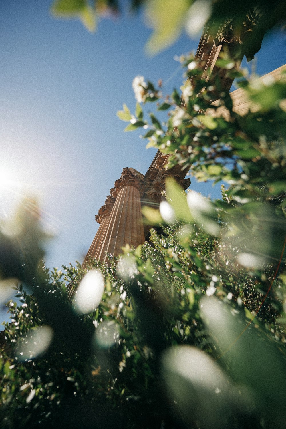
[[[149,127],[168,167],[227,182],[221,200],[170,179],[160,209],[145,208],[149,242],[64,273],[42,263],[35,202],[1,224],[0,287],[19,301],[7,303],[1,427],[284,427],[286,83],[248,81],[222,57],[259,106],[240,116],[193,60],[182,97],[139,76],[135,114],[117,115],[128,130]],[[143,120],[139,100],[167,120]]]

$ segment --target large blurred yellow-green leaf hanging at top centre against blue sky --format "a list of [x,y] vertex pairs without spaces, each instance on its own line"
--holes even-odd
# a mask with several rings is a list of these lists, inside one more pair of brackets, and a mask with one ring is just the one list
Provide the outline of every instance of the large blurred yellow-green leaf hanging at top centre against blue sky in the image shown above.
[[157,54],[171,45],[181,34],[190,0],[153,0],[146,4],[145,15],[147,23],[154,29],[148,40],[146,51],[148,54]]

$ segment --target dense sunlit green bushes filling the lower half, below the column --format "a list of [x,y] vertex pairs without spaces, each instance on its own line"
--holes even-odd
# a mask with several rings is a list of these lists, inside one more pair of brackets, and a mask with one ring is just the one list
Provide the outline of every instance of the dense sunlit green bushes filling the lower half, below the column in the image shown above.
[[[215,205],[189,210],[172,182],[167,200],[175,224],[126,246],[118,261],[91,259],[64,275],[38,268],[31,293],[18,285],[0,358],[1,427],[243,428],[246,418],[283,427],[286,275],[261,305],[273,269],[242,268],[239,246],[199,226]],[[234,204],[227,193],[220,201],[224,210]],[[105,288],[83,314],[76,296],[94,270]]]

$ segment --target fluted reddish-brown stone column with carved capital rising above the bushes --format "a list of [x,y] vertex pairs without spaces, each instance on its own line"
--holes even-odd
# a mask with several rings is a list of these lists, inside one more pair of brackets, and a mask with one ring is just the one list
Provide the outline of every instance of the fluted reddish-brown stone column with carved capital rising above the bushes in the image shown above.
[[137,247],[145,241],[140,196],[144,190],[142,178],[143,175],[132,168],[123,169],[120,179],[110,190],[113,199],[110,214],[105,210],[105,202],[96,217],[101,224],[83,266],[88,256],[105,261],[106,254],[117,256],[126,244]]

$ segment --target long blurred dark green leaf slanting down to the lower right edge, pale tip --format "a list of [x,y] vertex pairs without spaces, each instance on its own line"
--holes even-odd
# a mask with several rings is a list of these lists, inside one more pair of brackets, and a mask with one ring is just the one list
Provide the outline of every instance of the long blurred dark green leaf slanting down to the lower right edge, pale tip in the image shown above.
[[[220,347],[236,380],[249,386],[259,397],[260,412],[267,408],[269,427],[283,428],[286,418],[286,366],[283,353],[272,341],[261,338],[229,308],[214,297],[201,300],[201,311],[212,338]],[[261,401],[261,402],[260,402]],[[274,419],[271,421],[271,419]],[[268,425],[265,425],[268,427]]]

